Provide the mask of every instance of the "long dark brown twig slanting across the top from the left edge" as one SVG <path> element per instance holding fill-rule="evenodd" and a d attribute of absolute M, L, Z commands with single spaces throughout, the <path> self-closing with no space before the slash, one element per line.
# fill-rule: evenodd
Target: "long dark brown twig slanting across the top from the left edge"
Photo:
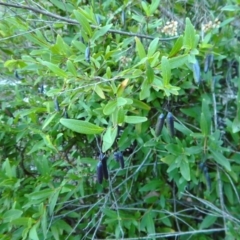
<path fill-rule="evenodd" d="M 7 6 L 7 7 L 13 7 L 13 8 L 21 8 L 21 9 L 26 9 L 35 13 L 40 13 L 43 14 L 45 16 L 49 16 L 58 20 L 62 20 L 68 24 L 72 24 L 72 25 L 79 25 L 79 22 L 77 20 L 73 20 L 70 18 L 66 18 L 66 17 L 62 17 L 59 16 L 57 14 L 45 11 L 45 10 L 41 10 L 41 9 L 37 9 L 37 8 L 33 8 L 33 7 L 29 7 L 29 6 L 25 6 L 25 5 L 18 5 L 18 4 L 12 4 L 12 3 L 4 3 L 4 2 L 0 2 L 0 5 L 2 6 Z M 94 29 L 100 29 L 99 26 L 96 25 L 91 25 L 92 28 Z M 122 30 L 116 30 L 116 29 L 109 29 L 108 31 L 109 33 L 115 33 L 115 34 L 120 34 L 120 35 L 125 35 L 125 36 L 130 36 L 130 37 L 139 37 L 139 38 L 145 38 L 145 39 L 155 39 L 156 37 L 154 36 L 149 36 L 149 35 L 144 35 L 144 34 L 138 34 L 138 33 L 131 33 L 131 32 L 126 32 L 126 31 L 122 31 Z M 158 38 L 159 41 L 170 41 L 173 39 L 177 39 L 178 36 L 174 36 L 174 37 L 169 37 L 169 38 Z"/>

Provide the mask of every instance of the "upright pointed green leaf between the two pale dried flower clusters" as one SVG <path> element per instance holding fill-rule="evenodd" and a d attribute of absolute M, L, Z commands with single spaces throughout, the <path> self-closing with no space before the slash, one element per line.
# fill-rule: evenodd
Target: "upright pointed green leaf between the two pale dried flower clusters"
<path fill-rule="evenodd" d="M 195 29 L 189 18 L 186 18 L 183 45 L 188 50 L 195 48 Z"/>

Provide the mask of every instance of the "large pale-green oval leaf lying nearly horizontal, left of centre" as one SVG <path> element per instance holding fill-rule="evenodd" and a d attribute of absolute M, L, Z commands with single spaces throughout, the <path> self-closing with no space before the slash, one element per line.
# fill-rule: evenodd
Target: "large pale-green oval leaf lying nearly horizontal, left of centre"
<path fill-rule="evenodd" d="M 99 134 L 104 130 L 104 128 L 96 126 L 92 123 L 75 119 L 61 118 L 60 123 L 72 131 L 82 134 Z"/>

